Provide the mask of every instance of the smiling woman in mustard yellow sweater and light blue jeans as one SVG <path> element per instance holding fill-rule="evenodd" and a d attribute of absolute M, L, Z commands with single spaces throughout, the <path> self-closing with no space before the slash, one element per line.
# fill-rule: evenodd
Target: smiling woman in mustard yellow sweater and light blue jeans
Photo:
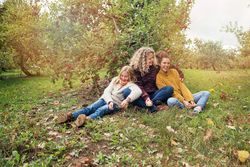
<path fill-rule="evenodd" d="M 161 51 L 161 56 L 157 56 L 160 64 L 160 71 L 156 77 L 156 85 L 159 89 L 165 86 L 174 88 L 173 97 L 169 98 L 167 104 L 169 107 L 177 106 L 179 108 L 194 108 L 194 114 L 201 112 L 210 96 L 208 91 L 200 91 L 191 94 L 186 85 L 180 81 L 179 74 L 175 69 L 170 69 L 170 58 L 168 54 Z"/>

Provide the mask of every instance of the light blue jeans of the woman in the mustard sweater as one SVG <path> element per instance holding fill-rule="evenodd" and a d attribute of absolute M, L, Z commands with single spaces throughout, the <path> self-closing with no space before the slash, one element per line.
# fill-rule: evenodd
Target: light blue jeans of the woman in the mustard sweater
<path fill-rule="evenodd" d="M 200 91 L 198 93 L 193 94 L 194 102 L 196 103 L 196 106 L 201 106 L 201 108 L 204 109 L 209 96 L 210 96 L 210 93 L 208 91 Z M 181 109 L 185 108 L 184 104 L 174 97 L 169 98 L 167 103 L 169 107 L 177 106 Z"/>

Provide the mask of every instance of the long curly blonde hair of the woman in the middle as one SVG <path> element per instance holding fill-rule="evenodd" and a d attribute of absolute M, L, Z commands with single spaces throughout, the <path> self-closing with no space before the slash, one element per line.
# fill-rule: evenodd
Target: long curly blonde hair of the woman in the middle
<path fill-rule="evenodd" d="M 134 70 L 139 70 L 143 76 L 148 72 L 149 67 L 147 66 L 147 55 L 153 53 L 154 55 L 154 65 L 157 65 L 155 58 L 155 51 L 150 47 L 141 47 L 138 49 L 130 60 L 130 66 Z"/>

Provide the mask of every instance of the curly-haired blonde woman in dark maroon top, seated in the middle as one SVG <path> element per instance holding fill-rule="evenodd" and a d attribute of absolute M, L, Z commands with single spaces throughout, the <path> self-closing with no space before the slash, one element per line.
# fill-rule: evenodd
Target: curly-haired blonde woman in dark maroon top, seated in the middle
<path fill-rule="evenodd" d="M 156 87 L 156 75 L 159 67 L 156 63 L 155 51 L 149 47 L 138 49 L 131 58 L 130 66 L 134 70 L 135 83 L 142 90 L 142 96 L 135 100 L 134 104 L 139 107 L 149 108 L 150 112 L 165 109 L 159 104 L 167 102 L 167 99 L 173 94 L 173 88 L 164 86 L 158 90 Z"/>

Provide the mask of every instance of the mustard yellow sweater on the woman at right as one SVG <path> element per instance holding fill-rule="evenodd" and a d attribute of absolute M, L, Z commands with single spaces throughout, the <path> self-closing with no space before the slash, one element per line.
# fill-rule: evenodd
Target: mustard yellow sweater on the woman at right
<path fill-rule="evenodd" d="M 174 88 L 173 97 L 180 102 L 194 100 L 190 90 L 180 81 L 179 73 L 175 69 L 169 69 L 168 72 L 160 70 L 156 76 L 156 86 L 158 89 L 164 86 L 172 86 Z"/>

